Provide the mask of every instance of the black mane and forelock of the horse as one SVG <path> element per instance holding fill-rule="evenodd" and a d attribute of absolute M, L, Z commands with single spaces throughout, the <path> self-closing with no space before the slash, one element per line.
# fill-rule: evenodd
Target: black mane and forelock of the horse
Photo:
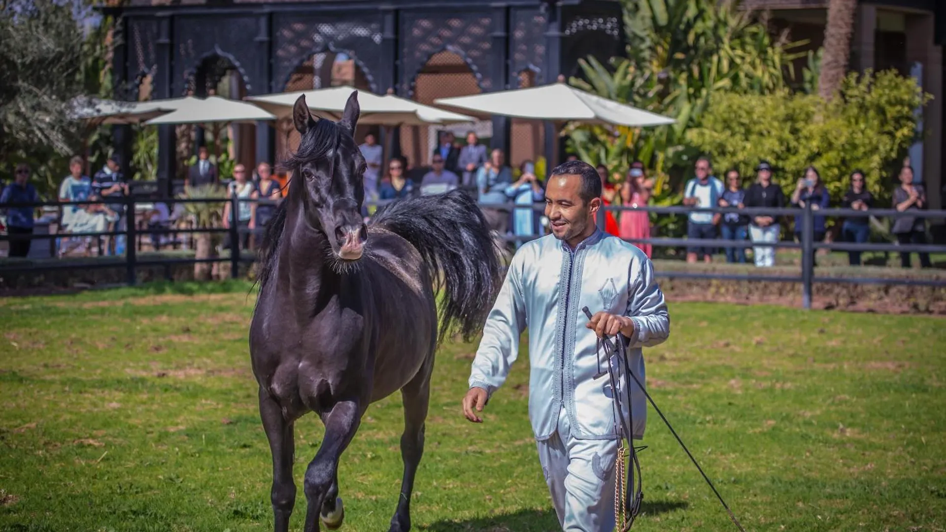
<path fill-rule="evenodd" d="M 302 135 L 299 141 L 299 149 L 289 155 L 289 159 L 279 165 L 279 168 L 289 170 L 294 178 L 299 174 L 299 168 L 312 161 L 318 161 L 326 158 L 329 154 L 338 151 L 342 144 L 342 134 L 346 133 L 337 123 L 326 118 L 320 118 L 315 122 L 306 134 Z M 293 185 L 293 179 L 289 179 L 289 193 L 287 197 L 276 206 L 276 212 L 272 220 L 266 226 L 266 233 L 259 246 L 259 275 L 256 282 L 259 288 L 263 289 L 267 281 L 272 276 L 273 268 L 276 263 L 276 252 L 282 243 L 283 230 L 286 228 L 286 209 L 289 200 L 294 197 L 294 188 L 302 184 Z"/>

